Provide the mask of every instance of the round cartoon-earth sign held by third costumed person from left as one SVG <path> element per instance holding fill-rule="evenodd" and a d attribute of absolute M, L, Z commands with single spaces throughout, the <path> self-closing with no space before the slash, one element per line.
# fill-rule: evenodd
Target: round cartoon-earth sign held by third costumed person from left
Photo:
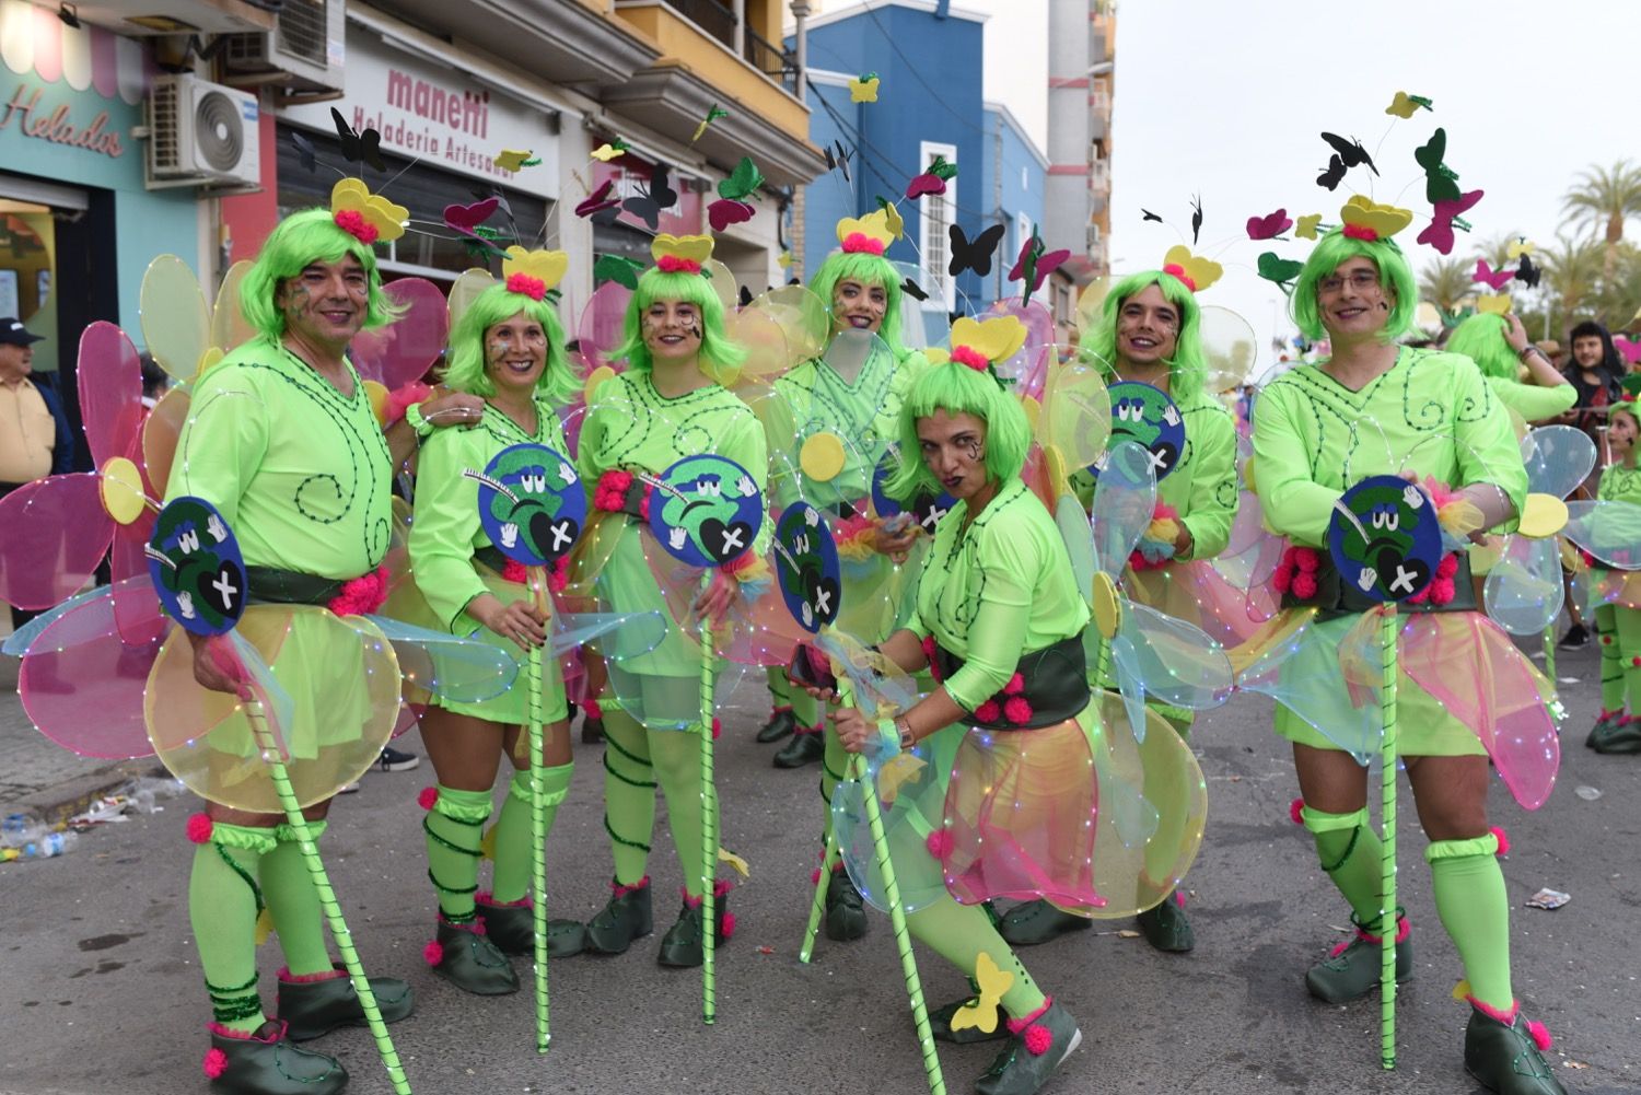
<path fill-rule="evenodd" d="M 763 497 L 747 470 L 725 456 L 684 456 L 650 496 L 650 532 L 689 566 L 720 566 L 752 548 Z"/>

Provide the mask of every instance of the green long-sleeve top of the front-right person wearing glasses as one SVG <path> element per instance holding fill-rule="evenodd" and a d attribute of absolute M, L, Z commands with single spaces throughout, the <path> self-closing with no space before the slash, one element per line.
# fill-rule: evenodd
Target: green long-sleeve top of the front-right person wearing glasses
<path fill-rule="evenodd" d="M 1301 364 L 1254 404 L 1259 502 L 1270 529 L 1295 543 L 1324 545 L 1346 488 L 1401 471 L 1454 489 L 1492 483 L 1521 511 L 1521 450 L 1470 358 L 1401 348 L 1390 369 L 1355 392 L 1318 364 Z"/>

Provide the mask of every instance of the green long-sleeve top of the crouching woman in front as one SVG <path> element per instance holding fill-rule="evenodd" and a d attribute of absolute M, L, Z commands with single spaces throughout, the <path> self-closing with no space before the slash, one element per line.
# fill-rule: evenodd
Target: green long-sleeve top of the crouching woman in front
<path fill-rule="evenodd" d="M 1022 655 L 1086 624 L 1088 602 L 1060 530 L 1021 479 L 1004 483 L 973 524 L 968 502 L 940 519 L 907 627 L 963 658 L 944 683 L 965 709 L 1008 685 Z"/>

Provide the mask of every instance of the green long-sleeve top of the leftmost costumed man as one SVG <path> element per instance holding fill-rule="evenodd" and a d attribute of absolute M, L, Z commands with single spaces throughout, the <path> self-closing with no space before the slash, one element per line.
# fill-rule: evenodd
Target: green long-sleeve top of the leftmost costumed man
<path fill-rule="evenodd" d="M 392 455 L 359 374 L 343 396 L 272 338 L 194 387 L 166 484 L 213 504 L 251 566 L 348 580 L 387 553 Z"/>

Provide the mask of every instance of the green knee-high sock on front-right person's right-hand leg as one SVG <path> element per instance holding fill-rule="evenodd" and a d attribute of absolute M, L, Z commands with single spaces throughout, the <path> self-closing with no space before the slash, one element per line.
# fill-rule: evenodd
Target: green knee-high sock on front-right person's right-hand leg
<path fill-rule="evenodd" d="M 1510 1011 L 1510 896 L 1495 859 L 1498 837 L 1434 841 L 1424 849 L 1431 865 L 1436 914 L 1464 962 L 1470 995 L 1490 1008 Z"/>

